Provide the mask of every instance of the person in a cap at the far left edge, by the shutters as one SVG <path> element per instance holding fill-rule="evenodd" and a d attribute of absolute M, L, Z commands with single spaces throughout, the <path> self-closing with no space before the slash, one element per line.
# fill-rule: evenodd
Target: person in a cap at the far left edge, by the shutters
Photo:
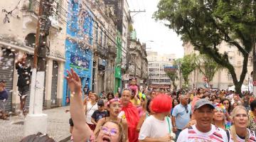
<path fill-rule="evenodd" d="M 0 82 L 0 118 L 7 119 L 7 116 L 5 114 L 5 103 L 8 99 L 8 92 L 5 89 L 6 82 L 4 80 L 1 80 Z"/>

